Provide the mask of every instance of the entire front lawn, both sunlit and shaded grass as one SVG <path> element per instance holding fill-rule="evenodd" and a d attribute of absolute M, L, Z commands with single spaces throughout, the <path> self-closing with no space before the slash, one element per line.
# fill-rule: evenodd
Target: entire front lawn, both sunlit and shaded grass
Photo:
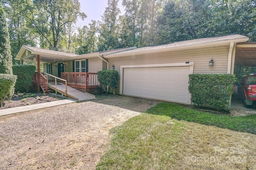
<path fill-rule="evenodd" d="M 111 130 L 96 169 L 254 169 L 255 118 L 215 115 L 161 103 Z"/>

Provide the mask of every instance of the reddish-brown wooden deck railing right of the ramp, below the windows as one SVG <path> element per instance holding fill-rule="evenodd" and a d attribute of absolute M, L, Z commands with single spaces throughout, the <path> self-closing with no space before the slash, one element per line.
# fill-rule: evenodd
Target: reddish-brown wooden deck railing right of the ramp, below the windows
<path fill-rule="evenodd" d="M 91 72 L 62 72 L 61 78 L 67 80 L 70 87 L 96 88 L 99 85 L 97 73 Z"/>

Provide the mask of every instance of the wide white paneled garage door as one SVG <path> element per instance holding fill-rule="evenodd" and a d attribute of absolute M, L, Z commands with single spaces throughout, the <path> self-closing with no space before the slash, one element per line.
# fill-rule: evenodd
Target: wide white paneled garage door
<path fill-rule="evenodd" d="M 189 66 L 124 68 L 123 94 L 190 104 Z"/>

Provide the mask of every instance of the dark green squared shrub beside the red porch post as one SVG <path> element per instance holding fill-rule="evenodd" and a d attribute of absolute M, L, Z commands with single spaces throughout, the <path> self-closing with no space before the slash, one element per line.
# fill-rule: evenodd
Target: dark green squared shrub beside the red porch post
<path fill-rule="evenodd" d="M 29 92 L 33 83 L 33 76 L 35 74 L 36 66 L 16 64 L 12 66 L 14 75 L 17 75 L 16 91 Z"/>

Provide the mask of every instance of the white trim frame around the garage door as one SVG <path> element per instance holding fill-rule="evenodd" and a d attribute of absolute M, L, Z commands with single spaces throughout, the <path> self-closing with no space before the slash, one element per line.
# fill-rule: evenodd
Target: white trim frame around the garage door
<path fill-rule="evenodd" d="M 120 91 L 119 94 L 123 94 L 123 82 L 124 82 L 124 68 L 147 68 L 147 67 L 176 67 L 176 66 L 190 66 L 189 74 L 194 73 L 194 62 L 191 63 L 167 63 L 167 64 L 144 64 L 144 65 L 128 65 L 120 66 Z M 189 94 L 188 104 L 191 105 L 191 95 Z"/>

